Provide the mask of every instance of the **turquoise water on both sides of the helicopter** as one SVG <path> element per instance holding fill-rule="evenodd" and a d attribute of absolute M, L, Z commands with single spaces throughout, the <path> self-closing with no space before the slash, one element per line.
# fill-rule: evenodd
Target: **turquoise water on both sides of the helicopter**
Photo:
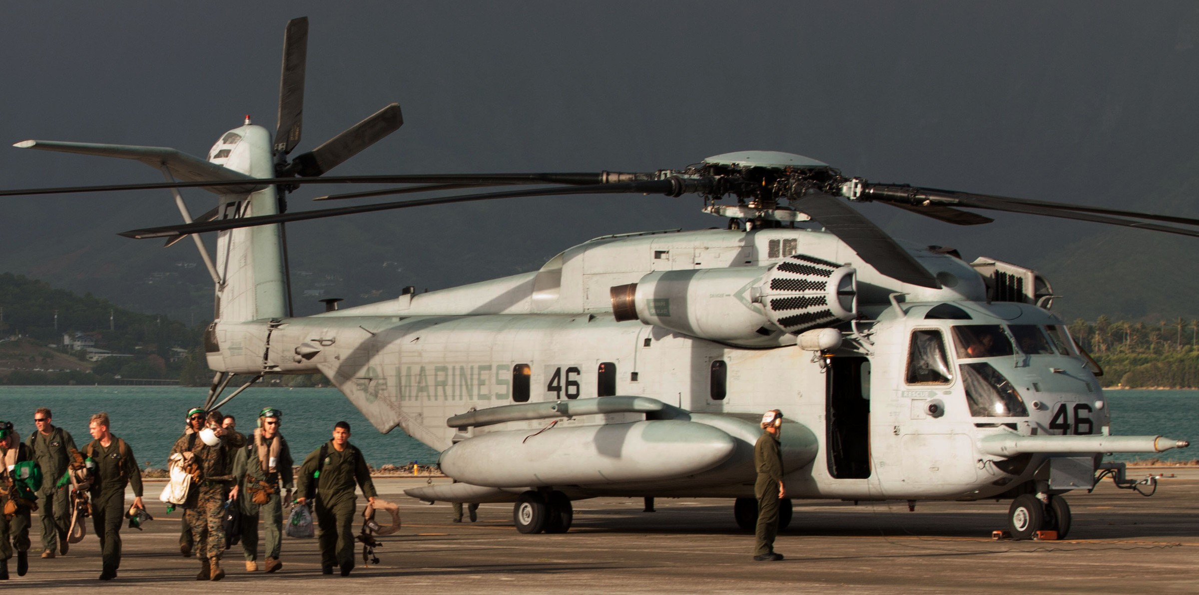
<path fill-rule="evenodd" d="M 228 394 L 228 393 L 227 393 Z M 17 425 L 22 437 L 34 431 L 34 409 L 49 407 L 54 424 L 70 431 L 83 447 L 91 438 L 88 419 L 107 411 L 113 433 L 126 438 L 139 462 L 163 467 L 170 447 L 183 431 L 183 415 L 199 406 L 205 388 L 187 387 L 0 387 L 0 419 Z M 1111 411 L 1111 433 L 1163 435 L 1199 443 L 1199 390 L 1109 390 L 1104 399 Z M 249 432 L 263 407 L 283 409 L 283 435 L 299 462 L 320 447 L 338 420 L 353 427 L 350 442 L 362 449 L 374 467 L 411 461 L 436 462 L 435 450 L 399 430 L 381 435 L 332 388 L 251 388 L 222 412 L 237 418 L 237 429 Z M 1159 455 L 1115 455 L 1117 461 L 1157 457 L 1167 461 L 1199 459 L 1199 444 Z"/>

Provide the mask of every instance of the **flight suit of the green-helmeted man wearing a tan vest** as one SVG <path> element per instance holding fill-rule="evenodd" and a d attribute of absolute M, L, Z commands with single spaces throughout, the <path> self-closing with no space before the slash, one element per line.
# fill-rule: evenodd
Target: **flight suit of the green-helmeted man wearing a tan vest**
<path fill-rule="evenodd" d="M 257 436 L 258 432 L 259 430 L 255 430 L 252 436 Z M 266 533 L 266 558 L 279 559 L 279 550 L 283 545 L 283 490 L 291 490 L 295 486 L 291 450 L 283 435 L 279 435 L 279 456 L 275 463 L 275 473 L 269 473 L 267 469 L 263 468 L 263 462 L 258 456 L 258 447 L 253 439 L 247 441 L 246 448 L 237 450 L 237 459 L 234 462 L 234 475 L 241 484 L 237 496 L 237 500 L 241 502 L 243 521 L 241 551 L 247 561 L 258 559 L 258 520 L 261 515 L 265 515 L 261 518 Z M 267 462 L 269 467 L 270 462 Z M 247 490 L 247 484 L 251 481 L 266 481 L 275 490 L 266 504 L 254 504 L 249 490 Z"/>

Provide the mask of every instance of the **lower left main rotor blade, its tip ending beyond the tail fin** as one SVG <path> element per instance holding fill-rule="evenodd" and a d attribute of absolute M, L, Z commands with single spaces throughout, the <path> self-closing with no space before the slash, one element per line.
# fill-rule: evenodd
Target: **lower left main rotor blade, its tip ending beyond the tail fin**
<path fill-rule="evenodd" d="M 535 188 L 525 190 L 507 190 L 482 194 L 464 194 L 457 196 L 439 196 L 433 199 L 405 200 L 398 202 L 380 202 L 375 205 L 355 205 L 341 208 L 324 208 L 317 211 L 300 211 L 283 214 L 267 214 L 259 217 L 243 217 L 237 219 L 219 219 L 206 223 L 192 223 L 185 225 L 170 225 L 164 227 L 147 227 L 121 232 L 121 236 L 135 239 L 155 237 L 173 237 L 185 233 L 204 233 L 207 231 L 222 231 L 236 227 L 252 227 L 255 225 L 272 225 L 276 223 L 303 221 L 308 219 L 321 219 L 325 217 L 337 217 L 343 214 L 374 213 L 379 211 L 391 211 L 396 208 L 423 207 L 432 205 L 448 205 L 453 202 L 471 202 L 477 200 L 516 199 L 522 196 L 550 196 L 565 194 L 667 194 L 679 196 L 683 193 L 701 192 L 707 188 L 707 180 L 655 180 L 647 182 L 620 182 L 602 186 L 558 186 L 552 188 Z"/>

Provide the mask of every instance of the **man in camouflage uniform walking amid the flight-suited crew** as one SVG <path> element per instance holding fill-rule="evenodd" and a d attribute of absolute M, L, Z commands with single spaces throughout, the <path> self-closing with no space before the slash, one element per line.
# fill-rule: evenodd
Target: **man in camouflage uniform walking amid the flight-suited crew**
<path fill-rule="evenodd" d="M 197 581 L 219 581 L 224 578 L 221 569 L 221 554 L 225 547 L 225 535 L 222 527 L 224 503 L 237 498 L 237 485 L 234 481 L 233 463 L 237 449 L 245 447 L 237 442 L 236 432 L 224 433 L 221 412 L 209 412 L 206 427 L 194 432 L 198 439 L 185 435 L 175 441 L 170 454 L 191 454 L 195 474 L 192 490 L 187 493 L 183 505 L 183 522 L 192 529 L 195 540 L 195 555 L 200 559 L 200 571 Z"/>

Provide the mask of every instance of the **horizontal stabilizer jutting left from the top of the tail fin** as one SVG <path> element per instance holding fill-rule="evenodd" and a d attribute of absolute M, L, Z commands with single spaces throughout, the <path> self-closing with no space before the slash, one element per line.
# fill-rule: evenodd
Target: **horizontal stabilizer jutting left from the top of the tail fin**
<path fill-rule="evenodd" d="M 17 148 L 40 148 L 62 153 L 94 154 L 97 157 L 116 157 L 135 159 L 153 169 L 167 168 L 176 180 L 185 182 L 236 182 L 255 178 L 231 169 L 209 163 L 199 157 L 179 152 L 169 147 L 143 147 L 135 145 L 97 145 L 92 142 L 62 142 L 56 140 L 23 140 L 13 145 Z M 247 194 L 263 189 L 261 184 L 201 187 L 213 194 Z"/>

